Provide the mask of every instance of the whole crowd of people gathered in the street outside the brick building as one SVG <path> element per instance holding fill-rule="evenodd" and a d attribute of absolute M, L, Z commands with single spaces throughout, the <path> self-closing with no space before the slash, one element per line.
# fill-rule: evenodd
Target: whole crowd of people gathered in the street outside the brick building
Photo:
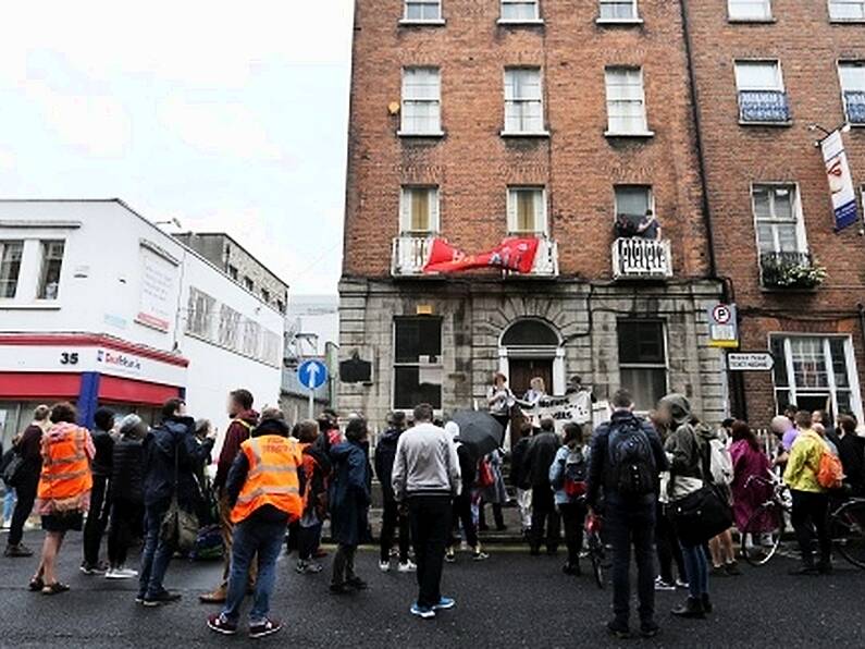
<path fill-rule="evenodd" d="M 584 390 L 579 377 L 571 389 Z M 136 601 L 155 608 L 181 597 L 164 586 L 175 553 L 195 552 L 202 537 L 215 537 L 223 549 L 222 579 L 200 601 L 221 611 L 207 624 L 217 633 L 237 633 L 244 599 L 251 595 L 249 634 L 263 637 L 281 628 L 270 614 L 270 599 L 283 543 L 296 551 L 298 574 L 321 573 L 325 522 L 336 546 L 330 591 L 346 596 L 368 588 L 356 555 L 373 539 L 369 512 L 375 476 L 383 506 L 379 567 L 391 571 L 395 559 L 398 573 L 416 574 L 410 612 L 433 619 L 456 603 L 442 592 L 444 564 L 457 562 L 464 546 L 473 561 L 490 558 L 479 536 L 486 529 L 486 505 L 496 529 L 506 529 L 509 466 L 531 555 L 542 549 L 555 555 L 564 528 L 563 572 L 579 576 L 586 524 L 603 519 L 613 558 L 608 630 L 617 637 L 631 634 L 631 549 L 642 636 L 659 630 L 656 591 L 687 590 L 672 610 L 677 616 L 705 619 L 713 612 L 709 577 L 742 574 L 732 530 L 753 537 L 745 543 L 761 542 L 754 514 L 768 497 L 773 475 L 782 476 L 792 493 L 791 523 L 802 556 L 794 573 L 831 572 L 830 498 L 865 494 L 865 439 L 854 418 L 841 416 L 830 427 L 823 412 L 788 408 L 771 421 L 778 443 L 769 454 L 746 423 L 728 419 L 714 430 L 681 394 L 667 395 L 642 418 L 631 395 L 620 390 L 613 395 L 609 421 L 594 430 L 585 423 L 514 418 L 515 408 L 530 408 L 543 396 L 542 379 L 517 399 L 497 374 L 490 416 L 502 430 L 520 421 L 519 430 L 508 453 L 496 449 L 481 456 L 461 439 L 459 425 L 437 420 L 429 404 L 410 416 L 390 414 L 371 449 L 368 423 L 358 415 L 341 426 L 335 412 L 324 411 L 317 420 L 292 426 L 276 408 L 259 414 L 252 394 L 235 390 L 215 458 L 211 424 L 196 421 L 180 399 L 163 405 L 153 427 L 138 415 L 118 420 L 100 408 L 88 430 L 69 403 L 39 406 L 4 456 L 7 491 L 16 499 L 8 516 L 10 518 L 4 554 L 34 554 L 23 535 L 35 512 L 45 536 L 30 590 L 52 596 L 70 589 L 57 558 L 67 532 L 83 531 L 82 573 L 137 578 Z M 832 458 L 842 483 L 827 486 L 824 465 Z M 136 539 L 141 552 L 133 566 L 128 555 Z"/>

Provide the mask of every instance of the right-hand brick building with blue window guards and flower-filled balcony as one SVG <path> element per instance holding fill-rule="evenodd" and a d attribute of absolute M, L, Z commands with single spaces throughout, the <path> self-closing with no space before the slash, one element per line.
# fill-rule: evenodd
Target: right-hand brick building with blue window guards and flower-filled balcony
<path fill-rule="evenodd" d="M 814 144 L 850 122 L 852 175 L 865 183 L 865 1 L 687 8 L 718 272 L 739 305 L 742 348 L 776 359 L 774 374 L 737 377 L 736 409 L 763 426 L 788 403 L 862 420 L 862 221 L 833 231 Z M 820 285 L 808 272 L 792 281 L 791 268 L 814 267 L 826 269 Z"/>

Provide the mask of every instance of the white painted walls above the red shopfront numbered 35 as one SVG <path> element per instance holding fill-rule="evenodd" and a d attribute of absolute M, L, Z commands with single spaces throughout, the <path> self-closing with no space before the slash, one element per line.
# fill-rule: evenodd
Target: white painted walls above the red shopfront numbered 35
<path fill-rule="evenodd" d="M 18 291 L 14 299 L 0 299 L 0 331 L 106 333 L 158 350 L 176 350 L 189 360 L 190 411 L 221 430 L 230 390 L 249 389 L 258 406 L 279 402 L 279 363 L 271 366 L 247 358 L 187 335 L 185 328 L 191 286 L 276 333 L 280 345 L 282 315 L 122 203 L 0 200 L 0 241 L 21 238 L 26 244 Z M 55 301 L 37 301 L 39 240 L 47 238 L 66 242 L 60 291 Z M 170 311 L 168 331 L 136 322 L 143 304 L 143 241 L 177 262 L 176 267 L 166 265 L 176 272 L 164 301 Z M 277 358 L 282 358 L 282 347 Z"/>

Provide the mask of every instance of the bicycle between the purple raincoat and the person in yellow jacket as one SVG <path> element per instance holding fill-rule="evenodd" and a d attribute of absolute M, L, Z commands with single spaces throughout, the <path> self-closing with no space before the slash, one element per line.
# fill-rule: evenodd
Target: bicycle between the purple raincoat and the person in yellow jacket
<path fill-rule="evenodd" d="M 768 500 L 754 510 L 747 523 L 739 530 L 742 556 L 751 565 L 761 566 L 766 565 L 777 554 L 793 504 L 790 490 L 783 482 L 751 476 L 745 481 L 745 488 L 751 487 L 752 482 L 771 487 Z"/>

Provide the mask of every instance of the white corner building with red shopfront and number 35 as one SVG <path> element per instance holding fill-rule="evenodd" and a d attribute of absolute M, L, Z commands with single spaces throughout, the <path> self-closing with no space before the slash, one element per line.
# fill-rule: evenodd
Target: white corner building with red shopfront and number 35
<path fill-rule="evenodd" d="M 152 423 L 171 396 L 225 428 L 279 403 L 282 314 L 121 200 L 0 200 L 0 433 L 70 400 Z"/>

